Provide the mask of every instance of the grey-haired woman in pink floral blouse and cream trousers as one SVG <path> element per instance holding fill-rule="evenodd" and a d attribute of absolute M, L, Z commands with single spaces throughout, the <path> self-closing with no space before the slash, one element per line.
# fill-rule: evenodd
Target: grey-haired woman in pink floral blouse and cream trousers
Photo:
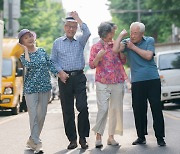
<path fill-rule="evenodd" d="M 116 25 L 111 22 L 103 22 L 98 27 L 100 41 L 91 48 L 89 65 L 96 68 L 96 96 L 98 113 L 93 131 L 96 133 L 96 148 L 101 148 L 102 135 L 105 130 L 107 116 L 109 116 L 108 145 L 117 146 L 114 134 L 123 134 L 123 96 L 124 81 L 127 75 L 123 64 L 126 57 L 120 52 L 113 53 L 113 37 Z M 127 35 L 126 30 L 120 33 L 119 38 Z M 108 113 L 109 112 L 109 113 Z"/>

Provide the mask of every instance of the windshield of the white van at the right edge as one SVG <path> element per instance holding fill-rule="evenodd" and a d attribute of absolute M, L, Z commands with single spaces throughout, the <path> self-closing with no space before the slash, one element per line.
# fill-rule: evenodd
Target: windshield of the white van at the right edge
<path fill-rule="evenodd" d="M 160 55 L 159 69 L 180 69 L 180 52 Z"/>

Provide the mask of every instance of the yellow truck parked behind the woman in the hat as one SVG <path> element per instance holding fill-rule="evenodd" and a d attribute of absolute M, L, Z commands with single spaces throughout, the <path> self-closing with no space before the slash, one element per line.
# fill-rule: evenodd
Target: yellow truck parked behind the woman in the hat
<path fill-rule="evenodd" d="M 0 109 L 11 109 L 12 115 L 23 110 L 23 66 L 19 60 L 23 53 L 18 39 L 4 38 L 2 46 L 2 87 Z M 27 109 L 25 109 L 27 111 Z"/>

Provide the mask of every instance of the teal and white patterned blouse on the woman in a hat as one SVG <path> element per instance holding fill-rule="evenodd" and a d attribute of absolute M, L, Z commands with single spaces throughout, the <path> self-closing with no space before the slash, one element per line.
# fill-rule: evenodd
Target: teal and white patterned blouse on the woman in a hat
<path fill-rule="evenodd" d="M 20 59 L 26 68 L 24 79 L 24 94 L 47 92 L 51 90 L 50 73 L 58 73 L 52 61 L 43 48 L 38 48 L 35 52 L 29 53 L 30 62 L 25 60 L 25 55 Z"/>

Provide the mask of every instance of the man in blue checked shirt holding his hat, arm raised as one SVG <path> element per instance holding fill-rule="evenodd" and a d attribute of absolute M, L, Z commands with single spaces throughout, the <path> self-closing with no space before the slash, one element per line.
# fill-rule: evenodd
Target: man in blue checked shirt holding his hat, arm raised
<path fill-rule="evenodd" d="M 81 148 L 88 148 L 86 137 L 89 136 L 89 113 L 87 107 L 86 77 L 83 73 L 85 66 L 84 47 L 90 31 L 79 18 L 76 11 L 70 12 L 64 21 L 65 35 L 54 41 L 51 60 L 59 72 L 58 79 L 60 100 L 63 112 L 65 133 L 70 144 L 67 149 L 77 147 L 77 133 L 75 125 L 74 98 L 78 113 L 78 134 Z M 75 38 L 78 28 L 82 35 Z"/>

